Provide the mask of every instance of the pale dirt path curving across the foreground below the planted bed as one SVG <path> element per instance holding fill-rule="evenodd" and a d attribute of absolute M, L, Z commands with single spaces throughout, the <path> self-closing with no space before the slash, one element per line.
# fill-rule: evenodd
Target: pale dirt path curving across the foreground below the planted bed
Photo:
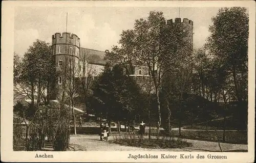
<path fill-rule="evenodd" d="M 108 142 L 102 142 L 99 140 L 98 135 L 71 135 L 70 143 L 78 144 L 87 149 L 87 151 L 205 151 L 205 152 L 220 152 L 218 143 L 216 142 L 207 142 L 207 141 L 198 141 L 198 140 L 187 140 L 187 142 L 192 143 L 191 147 L 182 148 L 182 149 L 147 149 L 139 147 L 130 147 L 123 146 L 119 144 L 112 143 L 113 137 L 109 137 Z M 244 144 L 229 144 L 221 143 L 223 151 L 236 151 L 240 152 L 247 150 L 247 145 Z"/>

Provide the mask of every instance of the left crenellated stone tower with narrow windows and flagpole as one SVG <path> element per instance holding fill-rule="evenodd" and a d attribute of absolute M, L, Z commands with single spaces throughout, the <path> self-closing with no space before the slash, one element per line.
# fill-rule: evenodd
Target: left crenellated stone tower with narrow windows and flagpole
<path fill-rule="evenodd" d="M 76 72 L 79 54 L 80 39 L 77 35 L 71 33 L 55 33 L 52 35 L 52 60 L 56 64 L 57 77 L 50 88 L 51 99 L 57 99 L 62 94 L 65 80 L 67 80 L 65 74 L 71 69 L 71 72 Z"/>

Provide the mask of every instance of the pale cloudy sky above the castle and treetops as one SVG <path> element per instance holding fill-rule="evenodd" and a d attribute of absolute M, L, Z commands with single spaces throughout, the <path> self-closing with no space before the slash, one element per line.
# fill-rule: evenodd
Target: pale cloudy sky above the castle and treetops
<path fill-rule="evenodd" d="M 194 22 L 194 47 L 202 47 L 209 36 L 211 17 L 220 8 L 180 8 L 180 18 Z M 178 7 L 16 7 L 14 51 L 23 56 L 36 39 L 51 43 L 51 36 L 67 32 L 80 38 L 80 46 L 111 50 L 118 44 L 122 30 L 133 29 L 136 19 L 146 19 L 150 11 L 162 11 L 164 18 L 179 17 Z"/>

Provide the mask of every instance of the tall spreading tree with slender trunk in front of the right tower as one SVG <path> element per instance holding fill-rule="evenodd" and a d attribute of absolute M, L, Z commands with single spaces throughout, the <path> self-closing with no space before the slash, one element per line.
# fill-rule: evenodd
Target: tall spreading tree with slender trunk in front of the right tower
<path fill-rule="evenodd" d="M 165 25 L 162 12 L 151 11 L 147 19 L 135 20 L 134 29 L 122 31 L 120 47 L 114 46 L 106 53 L 105 59 L 119 63 L 128 75 L 134 74 L 133 64 L 145 65 L 152 75 L 156 93 L 158 123 L 161 125 L 159 91 L 165 73 L 180 66 L 190 56 L 191 43 L 185 39 L 188 29 L 183 30 L 179 23 Z M 129 68 L 130 67 L 130 68 Z M 158 126 L 158 127 L 159 127 Z"/>

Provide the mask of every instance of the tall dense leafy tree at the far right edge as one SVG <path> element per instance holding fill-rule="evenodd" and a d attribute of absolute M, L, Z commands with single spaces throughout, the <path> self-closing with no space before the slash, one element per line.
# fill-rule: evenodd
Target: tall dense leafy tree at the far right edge
<path fill-rule="evenodd" d="M 233 100 L 238 101 L 237 120 L 247 126 L 248 101 L 248 34 L 249 18 L 246 8 L 222 8 L 209 28 L 210 36 L 206 48 L 225 72 L 225 78 L 231 80 L 229 88 Z M 224 87 L 223 87 L 224 88 Z M 236 114 L 238 115 L 238 114 Z M 239 124 L 238 124 L 239 125 Z"/>

